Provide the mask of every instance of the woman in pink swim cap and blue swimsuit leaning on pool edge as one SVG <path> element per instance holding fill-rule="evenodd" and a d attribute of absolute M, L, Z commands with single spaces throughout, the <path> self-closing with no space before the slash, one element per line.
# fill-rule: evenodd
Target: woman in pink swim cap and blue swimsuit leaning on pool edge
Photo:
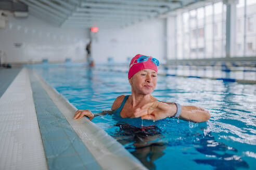
<path fill-rule="evenodd" d="M 147 120 L 160 120 L 175 117 L 193 122 L 209 120 L 209 112 L 202 108 L 158 101 L 151 95 L 157 84 L 157 66 L 159 61 L 151 56 L 141 54 L 134 56 L 128 72 L 132 94 L 117 97 L 111 107 L 112 112 L 120 115 L 121 118 L 140 117 Z M 89 110 L 78 110 L 73 119 L 81 119 L 83 116 L 92 120 L 95 115 Z"/>

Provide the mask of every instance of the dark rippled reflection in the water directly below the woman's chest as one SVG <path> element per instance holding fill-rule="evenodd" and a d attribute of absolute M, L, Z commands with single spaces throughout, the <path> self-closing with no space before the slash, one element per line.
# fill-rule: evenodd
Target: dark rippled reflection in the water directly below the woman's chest
<path fill-rule="evenodd" d="M 115 126 L 118 126 L 119 130 L 115 131 L 112 136 L 148 169 L 156 169 L 154 161 L 164 155 L 163 150 L 167 147 L 160 140 L 161 129 L 156 125 L 136 127 L 117 123 Z"/>

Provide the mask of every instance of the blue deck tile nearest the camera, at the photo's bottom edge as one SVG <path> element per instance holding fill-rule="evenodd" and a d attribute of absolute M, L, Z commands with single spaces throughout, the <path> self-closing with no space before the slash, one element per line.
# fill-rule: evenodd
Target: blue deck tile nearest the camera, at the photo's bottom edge
<path fill-rule="evenodd" d="M 84 170 L 83 162 L 78 157 L 78 155 L 70 155 L 67 157 L 56 157 L 47 159 L 48 167 L 50 170 L 53 169 L 75 169 L 75 170 Z"/>

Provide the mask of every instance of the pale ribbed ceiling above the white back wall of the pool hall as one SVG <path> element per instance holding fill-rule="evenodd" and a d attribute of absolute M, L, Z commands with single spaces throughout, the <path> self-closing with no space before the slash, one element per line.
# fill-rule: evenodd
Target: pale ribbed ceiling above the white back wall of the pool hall
<path fill-rule="evenodd" d="M 86 29 L 125 27 L 159 17 L 197 0 L 18 0 L 29 14 L 55 26 Z"/>

